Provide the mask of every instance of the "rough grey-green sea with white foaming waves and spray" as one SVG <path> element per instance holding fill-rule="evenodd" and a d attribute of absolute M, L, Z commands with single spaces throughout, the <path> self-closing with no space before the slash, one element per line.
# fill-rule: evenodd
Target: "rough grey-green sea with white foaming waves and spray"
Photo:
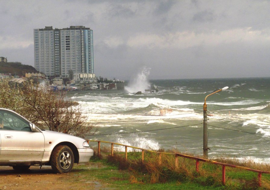
<path fill-rule="evenodd" d="M 142 72 L 123 90 L 68 94 L 97 124 L 97 132 L 88 139 L 202 156 L 205 97 L 228 86 L 206 99 L 208 157 L 270 162 L 270 78 L 147 78 Z M 158 92 L 135 95 L 151 85 Z"/>

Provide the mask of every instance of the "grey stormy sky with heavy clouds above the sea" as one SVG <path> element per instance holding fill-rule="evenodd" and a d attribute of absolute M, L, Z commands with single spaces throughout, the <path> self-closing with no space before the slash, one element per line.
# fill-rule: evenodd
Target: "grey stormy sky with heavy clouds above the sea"
<path fill-rule="evenodd" d="M 34 65 L 33 29 L 90 27 L 94 72 L 130 79 L 269 77 L 270 1 L 0 0 L 0 56 Z"/>

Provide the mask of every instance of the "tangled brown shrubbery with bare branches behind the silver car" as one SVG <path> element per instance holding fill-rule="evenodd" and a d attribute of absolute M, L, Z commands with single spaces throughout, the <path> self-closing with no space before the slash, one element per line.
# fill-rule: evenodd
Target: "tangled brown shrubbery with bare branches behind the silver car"
<path fill-rule="evenodd" d="M 1 81 L 0 107 L 18 112 L 39 128 L 80 137 L 97 130 L 65 91 L 53 92 L 31 81 L 16 88 L 9 86 L 8 81 Z"/>

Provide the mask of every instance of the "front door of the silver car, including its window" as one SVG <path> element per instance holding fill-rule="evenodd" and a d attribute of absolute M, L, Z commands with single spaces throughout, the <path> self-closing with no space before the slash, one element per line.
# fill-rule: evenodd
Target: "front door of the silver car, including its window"
<path fill-rule="evenodd" d="M 42 160 L 44 135 L 32 131 L 30 122 L 15 112 L 0 110 L 0 136 L 0 163 Z"/>

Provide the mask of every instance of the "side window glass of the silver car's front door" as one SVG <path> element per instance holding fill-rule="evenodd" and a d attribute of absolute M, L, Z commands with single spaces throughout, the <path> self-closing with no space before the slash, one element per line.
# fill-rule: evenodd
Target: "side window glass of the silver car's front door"
<path fill-rule="evenodd" d="M 30 124 L 27 121 L 8 111 L 0 111 L 0 129 L 31 131 Z"/>

